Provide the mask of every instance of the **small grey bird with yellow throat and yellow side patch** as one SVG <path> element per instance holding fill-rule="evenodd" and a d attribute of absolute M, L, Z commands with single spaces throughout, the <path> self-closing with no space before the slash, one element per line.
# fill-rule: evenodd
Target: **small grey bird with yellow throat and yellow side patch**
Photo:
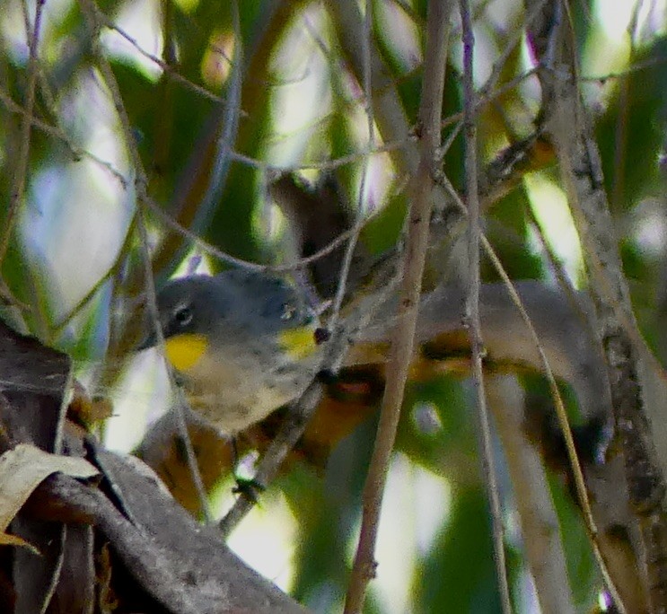
<path fill-rule="evenodd" d="M 225 434 L 294 401 L 320 371 L 327 336 L 284 277 L 244 268 L 184 276 L 156 303 L 164 352 L 190 407 Z M 138 349 L 156 342 L 149 323 Z"/>

